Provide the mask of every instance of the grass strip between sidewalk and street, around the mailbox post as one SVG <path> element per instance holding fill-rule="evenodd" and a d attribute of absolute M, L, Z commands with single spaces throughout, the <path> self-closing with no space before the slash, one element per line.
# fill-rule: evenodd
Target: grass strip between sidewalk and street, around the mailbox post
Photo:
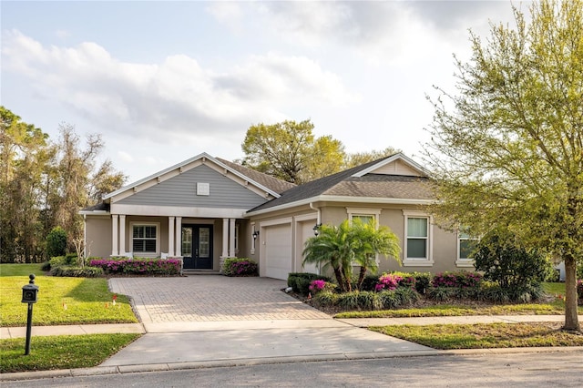
<path fill-rule="evenodd" d="M 90 368 L 134 342 L 140 334 L 90 334 L 0 340 L 0 373 Z"/>

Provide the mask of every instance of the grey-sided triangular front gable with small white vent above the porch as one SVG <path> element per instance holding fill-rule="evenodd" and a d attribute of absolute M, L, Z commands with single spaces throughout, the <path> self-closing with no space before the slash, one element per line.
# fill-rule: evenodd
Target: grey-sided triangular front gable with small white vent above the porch
<path fill-rule="evenodd" d="M 159 181 L 116 203 L 141 206 L 251 209 L 267 198 L 205 164 Z M 197 188 L 199 190 L 197 190 Z M 206 192 L 208 189 L 208 192 Z"/>

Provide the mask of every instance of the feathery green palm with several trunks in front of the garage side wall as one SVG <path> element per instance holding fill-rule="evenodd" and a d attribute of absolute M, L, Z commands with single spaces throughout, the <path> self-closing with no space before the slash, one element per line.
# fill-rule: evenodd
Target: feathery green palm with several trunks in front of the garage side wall
<path fill-rule="evenodd" d="M 399 240 L 386 227 L 343 220 L 339 226 L 322 225 L 318 236 L 305 242 L 303 263 L 320 264 L 332 269 L 341 291 L 352 291 L 353 265 L 360 265 L 357 285 L 363 284 L 366 271 L 377 268 L 375 255 L 384 254 L 398 260 Z"/>

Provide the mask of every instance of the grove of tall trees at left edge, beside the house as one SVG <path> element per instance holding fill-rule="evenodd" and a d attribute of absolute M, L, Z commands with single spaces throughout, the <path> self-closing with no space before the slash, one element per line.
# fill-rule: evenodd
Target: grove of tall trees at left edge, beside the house
<path fill-rule="evenodd" d="M 59 141 L 50 143 L 5 107 L 0 126 L 0 261 L 43 260 L 49 231 L 61 225 L 71 244 L 79 240 L 78 210 L 121 187 L 125 176 L 109 161 L 97 164 L 99 136 L 82 148 L 73 128 L 63 126 Z"/>

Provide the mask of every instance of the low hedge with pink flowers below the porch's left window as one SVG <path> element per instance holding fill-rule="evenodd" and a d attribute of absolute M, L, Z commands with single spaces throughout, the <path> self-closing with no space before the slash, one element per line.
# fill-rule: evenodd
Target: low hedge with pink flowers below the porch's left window
<path fill-rule="evenodd" d="M 107 274 L 178 275 L 182 262 L 176 259 L 91 260 L 91 267 L 99 267 Z"/>

